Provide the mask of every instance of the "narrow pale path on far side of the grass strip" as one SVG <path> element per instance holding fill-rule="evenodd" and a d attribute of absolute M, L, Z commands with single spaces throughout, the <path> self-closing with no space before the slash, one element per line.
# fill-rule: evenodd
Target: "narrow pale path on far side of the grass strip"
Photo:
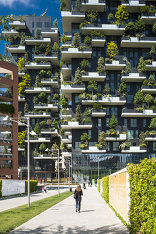
<path fill-rule="evenodd" d="M 65 192 L 67 190 L 69 191 L 68 186 L 60 186 L 60 193 Z M 41 193 L 31 194 L 30 202 L 41 200 L 41 199 L 44 199 L 46 197 L 50 197 L 56 194 L 58 194 L 58 187 L 54 185 L 51 188 L 49 188 L 47 193 L 41 192 Z M 25 195 L 22 197 L 10 197 L 4 200 L 0 200 L 0 212 L 15 208 L 17 206 L 22 206 L 27 203 L 28 203 L 28 197 Z"/>

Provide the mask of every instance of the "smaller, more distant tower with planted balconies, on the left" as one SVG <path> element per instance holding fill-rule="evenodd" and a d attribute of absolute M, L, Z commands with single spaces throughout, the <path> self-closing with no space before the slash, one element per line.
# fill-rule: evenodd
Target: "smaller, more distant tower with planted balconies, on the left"
<path fill-rule="evenodd" d="M 26 127 L 22 117 L 30 118 L 31 178 L 50 180 L 56 176 L 59 144 L 59 30 L 49 16 L 13 17 L 2 30 L 8 42 L 6 51 L 18 65 L 18 152 L 19 177 L 27 177 Z"/>

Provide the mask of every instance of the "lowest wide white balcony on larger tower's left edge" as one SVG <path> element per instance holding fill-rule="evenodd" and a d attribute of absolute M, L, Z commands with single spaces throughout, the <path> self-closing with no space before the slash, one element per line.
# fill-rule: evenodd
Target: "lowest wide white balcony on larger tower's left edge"
<path fill-rule="evenodd" d="M 77 121 L 74 122 L 65 122 L 61 124 L 62 129 L 91 129 L 92 123 L 79 123 Z"/>

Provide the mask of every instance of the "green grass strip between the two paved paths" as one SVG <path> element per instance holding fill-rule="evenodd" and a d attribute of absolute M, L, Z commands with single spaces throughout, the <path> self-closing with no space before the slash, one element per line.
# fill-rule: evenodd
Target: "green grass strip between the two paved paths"
<path fill-rule="evenodd" d="M 32 202 L 29 209 L 26 204 L 14 209 L 0 212 L 0 234 L 8 233 L 41 212 L 71 196 L 71 194 L 73 193 L 68 191 L 61 193 L 60 196 L 54 195 L 36 202 Z"/>

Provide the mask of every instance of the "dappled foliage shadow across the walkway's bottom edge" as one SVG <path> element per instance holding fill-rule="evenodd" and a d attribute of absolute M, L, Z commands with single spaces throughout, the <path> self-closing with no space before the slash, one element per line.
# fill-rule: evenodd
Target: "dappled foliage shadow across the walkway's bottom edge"
<path fill-rule="evenodd" d="M 70 222 L 70 220 L 69 220 Z M 95 221 L 96 222 L 96 221 Z M 123 228 L 119 227 L 119 225 L 107 225 L 96 229 L 85 229 L 84 227 L 75 226 L 74 228 L 64 228 L 62 225 L 57 226 L 57 228 L 50 226 L 40 226 L 36 229 L 23 229 L 22 227 L 16 231 L 10 232 L 10 234 L 20 234 L 20 233 L 37 233 L 37 234 L 128 234 L 128 231 L 125 231 Z"/>

